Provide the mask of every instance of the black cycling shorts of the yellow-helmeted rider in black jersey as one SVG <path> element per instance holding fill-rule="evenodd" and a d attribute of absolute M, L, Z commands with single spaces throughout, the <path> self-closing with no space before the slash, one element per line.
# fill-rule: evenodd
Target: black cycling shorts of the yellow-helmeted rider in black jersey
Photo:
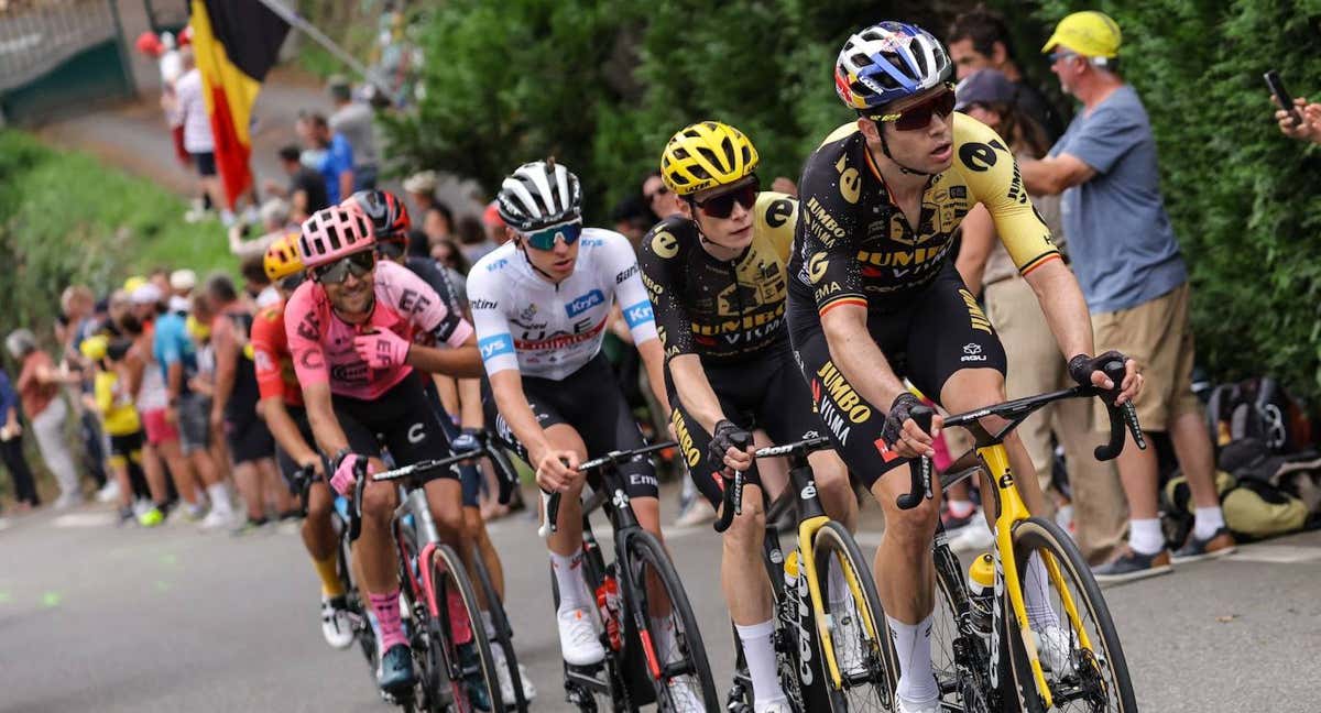
<path fill-rule="evenodd" d="M 815 438 L 826 432 L 787 345 L 736 364 L 703 364 L 703 370 L 720 400 L 720 411 L 734 425 L 746 430 L 764 429 L 777 444 Z M 683 405 L 668 367 L 664 380 L 674 407 L 670 420 L 679 438 L 679 454 L 688 466 L 694 485 L 719 510 L 724 491 L 720 471 L 724 465 L 708 458 L 711 434 Z M 744 473 L 744 482 L 761 486 L 756 462 Z"/>

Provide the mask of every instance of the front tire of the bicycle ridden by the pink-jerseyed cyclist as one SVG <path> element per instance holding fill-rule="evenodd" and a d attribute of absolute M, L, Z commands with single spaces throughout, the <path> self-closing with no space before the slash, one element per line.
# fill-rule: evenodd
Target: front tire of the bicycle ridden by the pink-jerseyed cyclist
<path fill-rule="evenodd" d="M 482 626 L 482 614 L 477 603 L 477 594 L 473 592 L 473 584 L 468 580 L 468 572 L 464 569 L 462 560 L 458 559 L 458 555 L 449 545 L 437 544 L 432 551 L 432 560 L 427 565 L 431 568 L 431 582 L 435 589 L 432 595 L 436 597 L 436 609 L 439 610 L 436 625 L 439 626 L 439 634 L 444 646 L 448 647 L 450 660 L 462 662 L 449 621 L 448 595 L 449 590 L 453 589 L 458 593 L 464 610 L 468 614 L 468 628 L 472 632 L 473 648 L 477 652 L 478 685 L 486 689 L 486 696 L 490 701 L 489 710 L 491 713 L 505 713 L 505 700 L 499 692 L 499 677 L 495 673 L 495 660 L 491 658 L 490 640 L 486 638 L 486 627 Z M 462 672 L 458 680 L 452 680 L 456 709 L 461 712 L 477 708 L 468 701 L 466 683 L 469 680 Z M 465 709 L 461 702 L 468 702 L 469 708 Z"/>

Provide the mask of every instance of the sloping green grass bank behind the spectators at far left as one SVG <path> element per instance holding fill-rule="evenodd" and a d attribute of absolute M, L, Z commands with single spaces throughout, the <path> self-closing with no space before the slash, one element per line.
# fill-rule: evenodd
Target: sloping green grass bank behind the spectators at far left
<path fill-rule="evenodd" d="M 235 269 L 219 223 L 184 222 L 184 201 L 91 156 L 59 152 L 18 131 L 0 131 L 0 335 L 38 334 L 53 322 L 65 287 L 103 294 L 157 265 L 199 275 Z"/>

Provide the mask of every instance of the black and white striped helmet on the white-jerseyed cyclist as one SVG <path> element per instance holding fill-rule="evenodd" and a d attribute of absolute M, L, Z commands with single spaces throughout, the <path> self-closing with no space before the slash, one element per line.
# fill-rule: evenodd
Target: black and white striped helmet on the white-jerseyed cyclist
<path fill-rule="evenodd" d="M 505 224 L 531 232 L 583 217 L 577 176 L 553 158 L 518 166 L 499 186 L 495 206 Z"/>

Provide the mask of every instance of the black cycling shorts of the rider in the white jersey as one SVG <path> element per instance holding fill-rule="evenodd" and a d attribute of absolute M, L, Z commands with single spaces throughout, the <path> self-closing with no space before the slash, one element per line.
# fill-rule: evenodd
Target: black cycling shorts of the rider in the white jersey
<path fill-rule="evenodd" d="M 646 445 L 605 354 L 597 354 L 583 364 L 583 368 L 559 382 L 523 376 L 523 396 L 527 397 L 527 405 L 532 408 L 542 428 L 555 424 L 573 426 L 587 444 L 588 458 Z M 527 461 L 527 448 L 518 442 L 509 424 L 497 413 L 495 396 L 485 379 L 482 409 L 486 413 L 486 429 L 509 442 L 518 457 Z M 627 463 L 620 467 L 620 473 L 627 486 L 625 491 L 629 498 L 655 498 L 659 494 L 651 461 Z"/>

